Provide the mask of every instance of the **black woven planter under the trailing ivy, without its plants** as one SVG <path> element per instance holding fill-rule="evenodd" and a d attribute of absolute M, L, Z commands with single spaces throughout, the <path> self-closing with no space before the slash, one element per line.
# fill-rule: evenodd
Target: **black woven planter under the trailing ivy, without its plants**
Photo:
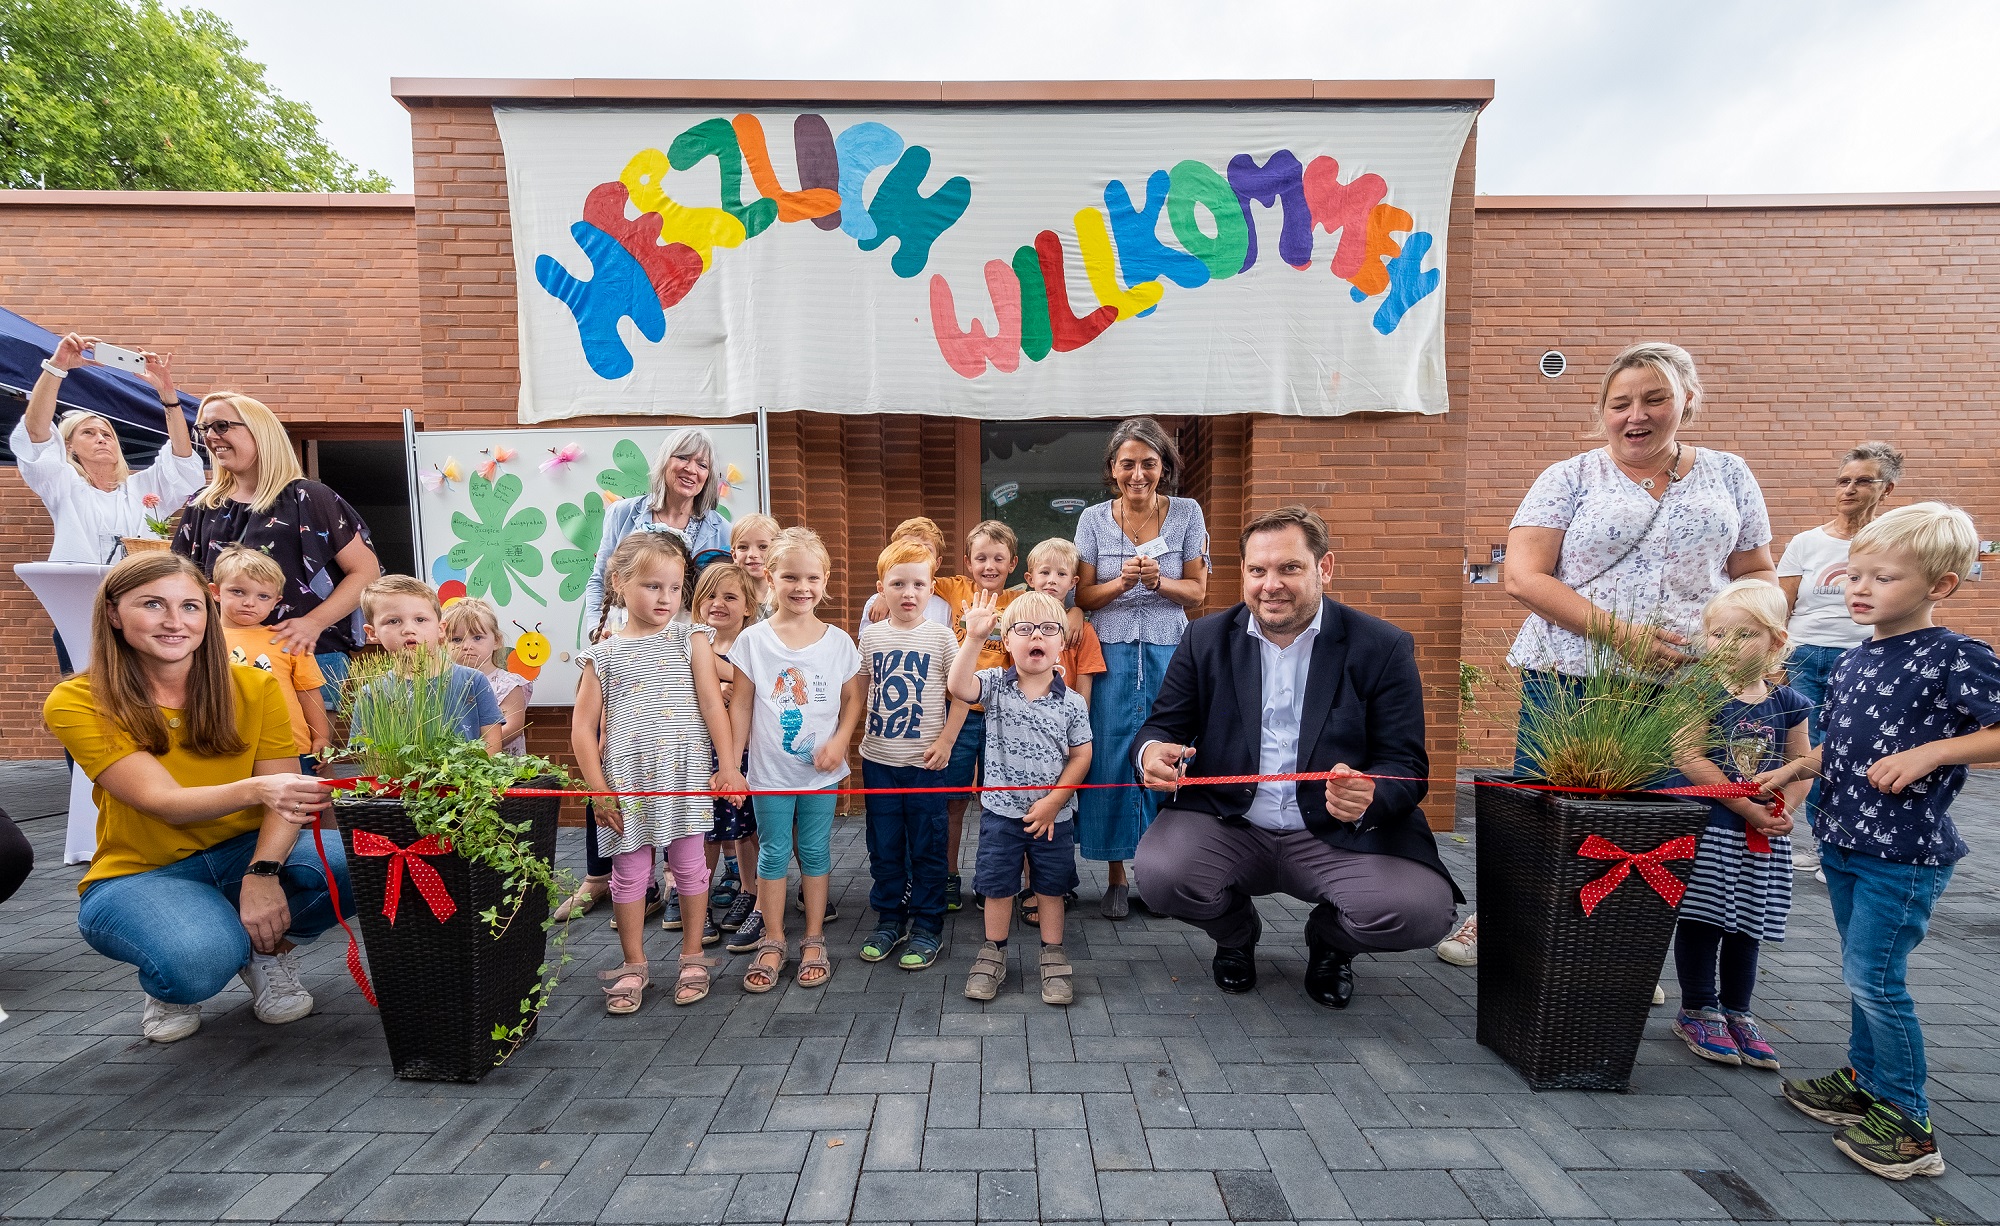
<path fill-rule="evenodd" d="M 554 780 L 526 786 L 552 788 Z M 558 796 L 520 796 L 500 802 L 508 822 L 530 822 L 528 842 L 538 856 L 556 856 Z M 530 890 L 526 904 L 500 940 L 480 912 L 500 906 L 500 874 L 452 854 L 424 856 L 456 904 L 444 922 L 432 914 L 408 868 L 402 874 L 396 920 L 382 914 L 394 856 L 360 856 L 356 832 L 380 834 L 398 848 L 418 842 L 402 800 L 336 800 L 340 838 L 348 852 L 354 910 L 368 948 L 368 978 L 382 1010 L 382 1034 L 396 1076 L 418 1082 L 476 1082 L 486 1076 L 506 1044 L 492 1038 L 494 1024 L 520 1022 L 520 1002 L 540 980 L 546 956 L 548 898 Z M 532 1028 L 530 1028 L 532 1036 Z"/>

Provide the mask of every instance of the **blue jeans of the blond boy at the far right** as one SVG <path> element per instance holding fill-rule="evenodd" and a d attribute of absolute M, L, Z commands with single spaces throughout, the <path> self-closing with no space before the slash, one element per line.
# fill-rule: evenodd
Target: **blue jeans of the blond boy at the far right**
<path fill-rule="evenodd" d="M 1862 1090 L 1928 1120 L 1924 1028 L 1906 980 L 1952 866 L 1894 864 L 1830 842 L 1820 844 L 1820 866 L 1840 928 L 1840 978 L 1854 1000 L 1848 1064 Z"/>

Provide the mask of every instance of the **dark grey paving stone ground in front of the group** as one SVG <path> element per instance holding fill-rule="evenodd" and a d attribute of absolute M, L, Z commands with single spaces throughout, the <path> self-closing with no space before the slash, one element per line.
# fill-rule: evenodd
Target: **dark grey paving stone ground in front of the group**
<path fill-rule="evenodd" d="M 0 768 L 0 790 L 48 786 Z M 40 780 L 40 784 L 36 784 Z M 54 780 L 60 790 L 60 778 Z M 36 808 L 36 806 L 30 806 Z M 42 806 L 46 808 L 46 806 Z M 1470 890 L 1470 808 L 1446 860 Z M 1654 1010 L 1630 1094 L 1532 1094 L 1474 1040 L 1474 974 L 1362 958 L 1346 1012 L 1310 1004 L 1304 908 L 1266 900 L 1262 986 L 1220 996 L 1182 924 L 1068 924 L 1078 1002 L 960 996 L 966 910 L 928 972 L 854 956 L 860 822 L 836 826 L 822 990 L 660 990 L 606 1018 L 606 910 L 542 1034 L 478 1086 L 400 1082 L 340 942 L 306 958 L 318 1012 L 250 1016 L 240 986 L 174 1046 L 138 1036 L 134 972 L 76 936 L 60 818 L 0 906 L 0 1216 L 118 1222 L 1980 1222 L 2000 1220 L 2000 778 L 1912 960 L 1950 1174 L 1888 1184 L 1782 1106 L 1778 1074 L 1702 1064 Z M 566 864 L 582 856 L 564 832 Z M 1848 1004 L 1826 890 L 1800 878 L 1760 1014 L 1792 1068 L 1842 1060 Z M 666 956 L 674 934 L 654 930 Z M 1020 942 L 1016 942 L 1018 948 Z M 1030 966 L 1032 970 L 1032 966 Z M 1670 978 L 1670 976 L 1668 976 Z"/>

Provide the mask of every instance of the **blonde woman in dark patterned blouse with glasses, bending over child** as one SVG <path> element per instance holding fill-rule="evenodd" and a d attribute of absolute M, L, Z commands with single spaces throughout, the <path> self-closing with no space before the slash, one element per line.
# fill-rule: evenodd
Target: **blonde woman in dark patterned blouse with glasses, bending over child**
<path fill-rule="evenodd" d="M 306 480 L 284 424 L 242 392 L 202 396 L 196 430 L 216 464 L 208 488 L 188 504 L 174 552 L 202 572 L 224 548 L 242 544 L 284 570 L 270 612 L 272 644 L 312 652 L 330 682 L 348 674 L 346 656 L 362 642 L 362 588 L 382 574 L 360 512 L 316 480 Z"/>

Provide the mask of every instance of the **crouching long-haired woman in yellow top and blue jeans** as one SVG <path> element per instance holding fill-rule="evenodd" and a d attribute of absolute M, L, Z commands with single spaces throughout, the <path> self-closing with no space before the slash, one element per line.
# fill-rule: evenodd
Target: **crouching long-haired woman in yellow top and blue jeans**
<path fill-rule="evenodd" d="M 98 852 L 78 890 L 90 948 L 138 966 L 142 1030 L 174 1042 L 242 974 L 262 1022 L 312 1012 L 292 948 L 334 926 L 326 872 L 298 844 L 328 784 L 298 774 L 278 680 L 232 666 L 222 614 L 180 554 L 104 576 L 90 672 L 42 720 L 96 784 Z M 340 840 L 326 858 L 352 914 Z"/>

